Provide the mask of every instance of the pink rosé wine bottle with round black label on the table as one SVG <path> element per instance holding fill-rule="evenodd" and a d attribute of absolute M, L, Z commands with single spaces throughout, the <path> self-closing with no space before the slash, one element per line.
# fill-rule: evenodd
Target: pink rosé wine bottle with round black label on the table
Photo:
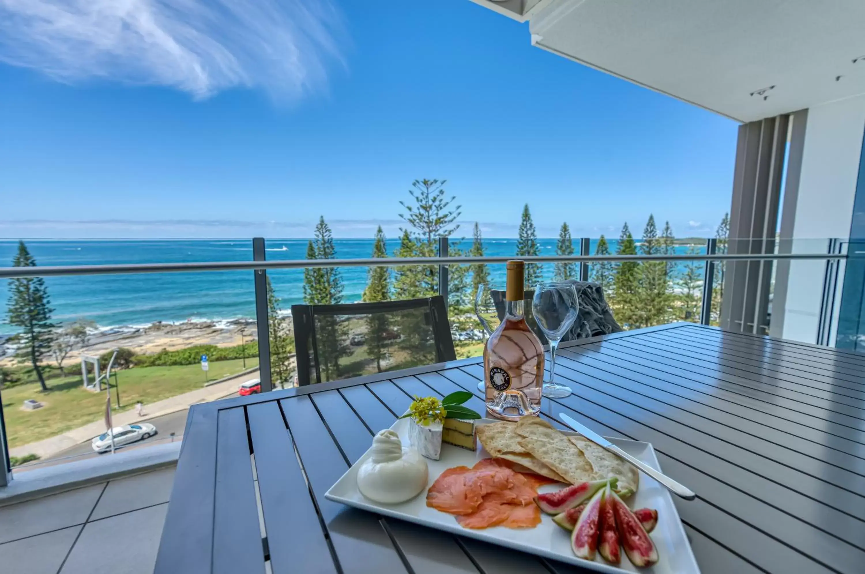
<path fill-rule="evenodd" d="M 504 319 L 484 347 L 487 412 L 503 420 L 536 417 L 541 411 L 544 355 L 522 316 L 524 265 L 508 262 Z"/>

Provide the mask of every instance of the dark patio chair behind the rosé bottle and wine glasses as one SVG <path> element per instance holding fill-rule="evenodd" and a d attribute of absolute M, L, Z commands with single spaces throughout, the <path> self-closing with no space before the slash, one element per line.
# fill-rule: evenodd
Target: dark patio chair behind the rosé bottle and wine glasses
<path fill-rule="evenodd" d="M 577 281 L 576 279 L 571 279 L 565 283 L 573 284 L 576 288 L 577 297 L 580 298 L 580 310 L 576 321 L 573 322 L 573 327 L 561 338 L 561 341 L 608 335 L 623 330 L 616 322 L 615 317 L 612 316 L 612 309 L 606 303 L 604 290 L 599 284 Z M 504 317 L 504 291 L 492 290 L 490 293 L 493 302 L 496 303 L 498 318 L 502 319 Z M 526 317 L 526 323 L 529 324 L 529 328 L 538 336 L 541 343 L 547 345 L 549 342 L 547 336 L 538 327 L 535 315 L 532 313 L 532 297 L 535 297 L 535 290 L 526 290 L 523 297 L 522 312 Z"/>

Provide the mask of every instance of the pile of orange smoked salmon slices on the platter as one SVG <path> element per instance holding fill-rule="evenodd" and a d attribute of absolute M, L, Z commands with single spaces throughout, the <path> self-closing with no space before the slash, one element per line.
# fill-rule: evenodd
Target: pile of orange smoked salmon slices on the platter
<path fill-rule="evenodd" d="M 426 506 L 456 514 L 464 528 L 532 528 L 541 523 L 534 503 L 537 487 L 534 475 L 514 471 L 507 461 L 487 458 L 472 469 L 445 470 L 427 491 Z"/>

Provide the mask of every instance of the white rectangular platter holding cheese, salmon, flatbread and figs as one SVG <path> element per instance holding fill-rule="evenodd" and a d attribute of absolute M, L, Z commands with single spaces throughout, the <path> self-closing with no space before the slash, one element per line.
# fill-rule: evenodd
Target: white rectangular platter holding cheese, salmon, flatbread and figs
<path fill-rule="evenodd" d="M 495 422 L 497 421 L 484 418 L 477 420 L 475 424 L 490 424 Z M 410 446 L 408 441 L 409 423 L 410 421 L 407 418 L 403 418 L 397 420 L 391 427 L 391 429 L 400 435 L 403 446 Z M 565 434 L 576 435 L 578 433 L 566 432 Z M 639 443 L 624 438 L 612 437 L 609 440 L 631 456 L 635 456 L 639 460 L 649 464 L 652 468 L 660 470 L 655 450 L 652 449 L 650 443 Z M 371 501 L 357 489 L 357 469 L 362 462 L 367 460 L 369 455 L 370 453 L 367 451 L 366 454 L 361 456 L 354 466 L 336 484 L 330 487 L 330 490 L 324 494 L 325 498 L 341 502 L 349 507 L 362 508 L 384 516 L 393 516 L 400 520 L 408 520 L 409 522 L 437 528 L 445 532 L 484 540 L 485 542 L 507 546 L 521 550 L 522 552 L 537 554 L 538 556 L 561 560 L 561 562 L 575 564 L 599 572 L 639 571 L 652 572 L 654 574 L 699 574 L 700 572 L 694 558 L 694 553 L 691 552 L 691 546 L 682 527 L 682 521 L 679 520 L 679 514 L 673 505 L 670 492 L 655 480 L 642 473 L 640 473 L 639 477 L 637 494 L 631 496 L 627 503 L 631 508 L 649 507 L 657 509 L 657 526 L 651 532 L 650 537 L 657 546 L 659 559 L 657 564 L 651 568 L 638 569 L 628 561 L 624 550 L 621 552 L 622 562 L 618 566 L 606 563 L 604 558 L 600 556 L 595 558 L 593 562 L 577 558 L 571 550 L 570 533 L 561 528 L 561 526 L 556 525 L 553 522 L 553 517 L 547 514 L 542 514 L 541 524 L 535 526 L 535 528 L 515 530 L 504 526 L 493 526 L 483 530 L 471 530 L 459 526 L 456 517 L 452 514 L 439 512 L 435 508 L 427 507 L 426 490 L 432 486 L 432 482 L 435 482 L 445 469 L 450 469 L 461 464 L 471 467 L 482 458 L 490 458 L 490 455 L 480 443 L 477 445 L 476 452 L 459 449 L 451 444 L 442 444 L 440 460 L 432 461 L 425 459 L 429 467 L 429 482 L 426 488 L 412 500 L 401 502 L 400 504 L 381 504 L 380 502 Z M 559 488 L 564 488 L 564 485 L 551 484 L 543 486 L 538 490 L 543 493 L 552 492 Z M 684 504 L 689 504 L 689 502 L 684 502 Z"/>

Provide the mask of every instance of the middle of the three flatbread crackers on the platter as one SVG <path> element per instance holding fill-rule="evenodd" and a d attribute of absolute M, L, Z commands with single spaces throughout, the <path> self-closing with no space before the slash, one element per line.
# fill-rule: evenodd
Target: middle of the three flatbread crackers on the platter
<path fill-rule="evenodd" d="M 522 436 L 519 441 L 523 449 L 562 475 L 567 482 L 591 481 L 594 469 L 583 451 L 567 440 L 567 436 L 540 418 L 522 418 L 516 432 Z"/>

